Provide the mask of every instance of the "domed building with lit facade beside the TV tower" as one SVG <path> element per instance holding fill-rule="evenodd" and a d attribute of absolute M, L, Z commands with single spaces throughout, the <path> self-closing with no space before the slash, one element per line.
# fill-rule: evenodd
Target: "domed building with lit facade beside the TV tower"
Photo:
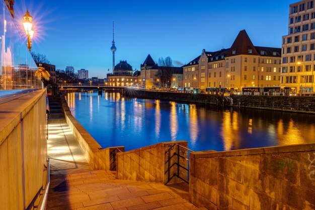
<path fill-rule="evenodd" d="M 126 60 L 121 60 L 115 65 L 113 74 L 107 74 L 110 86 L 137 86 L 140 83 L 140 72 L 133 72 L 132 66 Z"/>

